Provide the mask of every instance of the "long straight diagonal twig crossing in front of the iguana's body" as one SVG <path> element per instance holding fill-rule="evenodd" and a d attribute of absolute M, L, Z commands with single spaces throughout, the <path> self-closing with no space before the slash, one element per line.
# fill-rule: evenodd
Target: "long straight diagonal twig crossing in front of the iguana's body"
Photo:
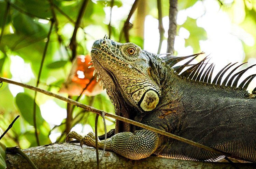
<path fill-rule="evenodd" d="M 90 106 L 86 106 L 86 105 L 84 105 L 84 104 L 82 104 L 82 103 L 80 103 L 80 102 L 74 101 L 74 100 L 72 100 L 72 99 L 69 99 L 69 98 L 60 96 L 60 95 L 58 95 L 58 94 L 54 94 L 54 93 L 52 93 L 52 92 L 49 92 L 49 91 L 46 91 L 46 90 L 43 90 L 43 89 L 40 89 L 40 88 L 37 88 L 37 87 L 30 86 L 30 85 L 28 85 L 28 84 L 16 82 L 16 81 L 13 81 L 13 80 L 10 80 L 10 79 L 6 79 L 6 78 L 3 78 L 3 77 L 0 77 L 0 81 L 2 81 L 2 82 L 7 82 L 7 83 L 11 83 L 11 84 L 15 84 L 15 85 L 18 85 L 18 86 L 21 86 L 21 87 L 24 87 L 24 88 L 28 88 L 28 89 L 31 89 L 31 90 L 34 90 L 34 91 L 43 93 L 43 94 L 48 95 L 48 96 L 55 97 L 55 98 L 57 98 L 57 99 L 66 101 L 66 102 L 68 102 L 68 103 L 70 103 L 70 104 L 76 105 L 77 107 L 81 107 L 81 108 L 83 108 L 83 109 L 85 109 L 85 110 L 87 110 L 87 111 L 90 111 L 90 112 L 93 112 L 93 113 L 96 113 L 96 114 L 99 114 L 99 115 L 102 115 L 102 114 L 104 113 L 105 116 L 112 117 L 112 118 L 114 118 L 114 119 L 121 120 L 121 121 L 124 121 L 124 122 L 126 122 L 126 123 L 129 123 L 129 124 L 132 124 L 132 125 L 135 125 L 135 126 L 138 126 L 138 127 L 144 128 L 144 129 L 147 129 L 147 130 L 151 130 L 151 131 L 156 132 L 156 133 L 159 133 L 159 134 L 161 134 L 161 135 L 165 135 L 165 136 L 167 136 L 167 137 L 171 137 L 171 138 L 173 138 L 173 139 L 179 140 L 179 141 L 181 141 L 181 142 L 184 142 L 184 143 L 187 143 L 187 144 L 196 146 L 196 147 L 198 147 L 198 148 L 201 148 L 201 149 L 204 149 L 204 150 L 207 150 L 207 151 L 211 151 L 211 152 L 216 153 L 216 154 L 219 154 L 219 155 L 231 156 L 230 153 L 222 152 L 222 151 L 220 151 L 220 150 L 217 150 L 217 149 L 214 149 L 214 148 L 211 148 L 211 147 L 204 146 L 204 145 L 202 145 L 202 144 L 199 144 L 199 143 L 193 142 L 193 141 L 191 141 L 191 140 L 185 139 L 185 138 L 183 138 L 183 137 L 180 137 L 180 136 L 177 136 L 177 135 L 168 133 L 168 132 L 166 132 L 166 131 L 162 131 L 162 130 L 156 129 L 156 128 L 151 127 L 151 126 L 147 126 L 147 125 L 145 125 L 145 124 L 139 123 L 139 122 L 134 121 L 134 120 L 130 120 L 130 119 L 127 119 L 127 118 L 124 118 L 124 117 L 121 117 L 121 116 L 117 116 L 117 115 L 115 115 L 115 114 L 111 114 L 111 113 L 107 113 L 107 112 L 102 111 L 102 110 L 95 109 L 95 108 L 90 107 Z M 231 157 L 236 158 L 236 159 L 242 159 L 242 160 L 248 161 L 248 160 L 246 160 L 246 159 L 243 159 L 243 158 L 237 157 L 237 156 L 231 156 Z"/>

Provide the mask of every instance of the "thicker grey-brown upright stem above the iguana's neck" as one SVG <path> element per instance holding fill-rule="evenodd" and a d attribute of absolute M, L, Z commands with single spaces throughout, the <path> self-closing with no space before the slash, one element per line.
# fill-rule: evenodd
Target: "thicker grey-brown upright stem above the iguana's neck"
<path fill-rule="evenodd" d="M 170 0 L 169 8 L 169 29 L 168 29 L 168 39 L 167 39 L 167 53 L 173 55 L 174 53 L 174 39 L 177 31 L 177 0 Z"/>

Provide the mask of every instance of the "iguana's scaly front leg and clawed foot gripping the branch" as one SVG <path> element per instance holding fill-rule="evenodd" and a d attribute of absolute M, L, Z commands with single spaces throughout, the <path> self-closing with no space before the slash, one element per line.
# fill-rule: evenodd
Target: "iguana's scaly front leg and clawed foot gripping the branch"
<path fill-rule="evenodd" d="M 76 132 L 70 132 L 66 140 L 74 138 L 80 141 L 80 145 L 83 144 L 91 147 L 96 147 L 95 134 L 90 132 L 84 137 Z M 122 155 L 130 159 L 146 158 L 153 154 L 158 146 L 158 134 L 150 130 L 137 130 L 134 133 L 122 132 L 117 133 L 106 141 L 106 150 L 114 151 L 115 153 Z M 103 149 L 104 140 L 98 139 L 98 147 Z"/>

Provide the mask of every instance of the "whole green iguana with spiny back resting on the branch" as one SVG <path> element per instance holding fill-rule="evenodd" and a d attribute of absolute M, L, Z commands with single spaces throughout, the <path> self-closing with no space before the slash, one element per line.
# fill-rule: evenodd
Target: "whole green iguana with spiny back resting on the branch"
<path fill-rule="evenodd" d="M 198 55 L 159 57 L 134 43 L 104 38 L 93 44 L 91 67 L 104 83 L 117 115 L 256 162 L 256 88 L 252 94 L 246 91 L 256 74 L 238 85 L 242 74 L 254 65 L 233 73 L 240 64 L 223 80 L 234 65 L 229 63 L 212 80 L 214 65 L 207 67 L 207 57 L 197 64 L 190 63 Z M 189 57 L 193 58 L 175 66 Z M 116 122 L 115 130 L 116 134 L 106 141 L 106 150 L 130 159 L 151 154 L 200 161 L 224 158 L 121 121 Z M 95 147 L 94 133 L 82 137 L 71 132 L 67 138 Z M 104 141 L 99 140 L 99 148 L 103 145 Z"/>

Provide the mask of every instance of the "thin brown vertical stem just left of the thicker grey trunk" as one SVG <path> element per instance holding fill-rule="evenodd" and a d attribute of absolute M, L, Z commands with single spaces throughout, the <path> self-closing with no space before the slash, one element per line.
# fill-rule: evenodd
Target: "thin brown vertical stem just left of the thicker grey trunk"
<path fill-rule="evenodd" d="M 160 53 L 162 42 L 163 42 L 163 36 L 165 34 L 165 29 L 163 28 L 163 16 L 162 16 L 162 2 L 161 0 L 157 0 L 157 8 L 158 8 L 158 30 L 159 30 L 159 45 L 157 54 Z"/>

